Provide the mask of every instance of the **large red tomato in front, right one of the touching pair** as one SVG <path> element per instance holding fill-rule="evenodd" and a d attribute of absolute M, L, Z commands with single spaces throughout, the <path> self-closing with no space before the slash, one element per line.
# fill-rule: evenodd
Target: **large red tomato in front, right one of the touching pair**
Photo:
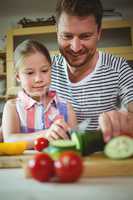
<path fill-rule="evenodd" d="M 81 157 L 73 151 L 66 151 L 55 161 L 55 173 L 60 182 L 74 182 L 83 171 Z"/>

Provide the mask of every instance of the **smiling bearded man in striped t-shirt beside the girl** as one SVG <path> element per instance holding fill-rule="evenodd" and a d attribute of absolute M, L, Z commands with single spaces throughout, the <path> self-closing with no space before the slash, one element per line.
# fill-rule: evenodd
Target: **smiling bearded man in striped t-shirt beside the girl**
<path fill-rule="evenodd" d="M 133 70 L 124 58 L 97 50 L 103 8 L 100 0 L 59 0 L 52 88 L 70 101 L 78 121 L 102 129 L 105 141 L 133 133 Z M 118 111 L 123 105 L 126 112 Z"/>

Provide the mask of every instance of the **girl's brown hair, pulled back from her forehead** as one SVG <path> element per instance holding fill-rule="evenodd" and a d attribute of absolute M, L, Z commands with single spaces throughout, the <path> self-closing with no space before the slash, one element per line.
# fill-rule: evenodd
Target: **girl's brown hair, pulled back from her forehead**
<path fill-rule="evenodd" d="M 40 52 L 41 54 L 43 54 L 47 58 L 48 62 L 51 64 L 51 57 L 48 49 L 42 43 L 36 40 L 28 39 L 20 43 L 14 51 L 15 70 L 19 69 L 25 57 L 36 52 Z"/>

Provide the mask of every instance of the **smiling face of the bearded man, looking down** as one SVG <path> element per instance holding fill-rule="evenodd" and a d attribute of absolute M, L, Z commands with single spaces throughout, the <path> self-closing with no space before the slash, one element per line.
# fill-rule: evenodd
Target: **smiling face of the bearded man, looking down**
<path fill-rule="evenodd" d="M 94 16 L 77 17 L 62 13 L 57 27 L 57 38 L 61 54 L 70 67 L 89 64 L 96 52 L 101 31 Z"/>

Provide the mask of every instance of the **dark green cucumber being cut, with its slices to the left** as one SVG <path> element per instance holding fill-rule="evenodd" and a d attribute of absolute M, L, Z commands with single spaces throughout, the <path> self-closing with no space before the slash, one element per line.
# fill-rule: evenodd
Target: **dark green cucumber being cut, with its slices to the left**
<path fill-rule="evenodd" d="M 50 142 L 44 152 L 49 153 L 54 159 L 63 151 L 77 151 L 83 156 L 90 155 L 104 149 L 103 135 L 100 131 L 73 132 L 71 140 L 54 140 Z"/>

